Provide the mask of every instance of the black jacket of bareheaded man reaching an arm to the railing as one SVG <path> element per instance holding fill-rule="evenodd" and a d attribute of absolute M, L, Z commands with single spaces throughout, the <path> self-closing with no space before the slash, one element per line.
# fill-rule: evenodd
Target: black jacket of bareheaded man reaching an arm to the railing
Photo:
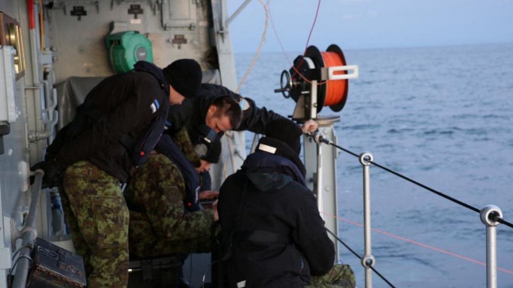
<path fill-rule="evenodd" d="M 201 124 L 205 124 L 206 112 L 208 107 L 212 105 L 214 100 L 223 96 L 230 96 L 239 102 L 241 95 L 231 91 L 230 89 L 216 84 L 201 84 L 198 97 L 194 100 L 184 100 L 180 107 L 172 106 L 169 109 L 168 121 L 171 123 L 172 129 L 168 129 L 170 133 L 179 131 L 182 127 L 191 130 Z M 280 114 L 268 111 L 265 107 L 258 108 L 255 102 L 249 98 L 244 98 L 249 103 L 249 108 L 243 111 L 242 122 L 240 126 L 234 130 L 249 130 L 255 133 L 263 133 L 265 125 L 275 119 L 283 118 Z M 243 109 L 243 107 L 242 107 Z"/>

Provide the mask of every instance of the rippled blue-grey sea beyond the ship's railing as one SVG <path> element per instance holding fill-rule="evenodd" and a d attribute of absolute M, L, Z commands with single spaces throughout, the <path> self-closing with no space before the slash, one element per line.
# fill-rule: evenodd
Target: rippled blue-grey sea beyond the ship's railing
<path fill-rule="evenodd" d="M 349 65 L 358 65 L 359 78 L 350 80 L 348 101 L 337 113 L 339 144 L 370 151 L 375 162 L 475 207 L 498 205 L 513 222 L 513 44 L 344 53 Z M 235 59 L 240 81 L 253 54 Z M 262 53 L 240 93 L 292 114 L 294 101 L 273 92 L 289 68 L 283 53 Z M 338 216 L 362 223 L 362 166 L 342 152 L 337 176 Z M 373 228 L 486 262 L 478 213 L 373 166 L 371 194 Z M 498 266 L 513 271 L 513 228 L 497 230 Z M 339 235 L 363 254 L 363 228 L 339 221 Z M 376 270 L 396 287 L 486 286 L 485 266 L 375 232 L 372 244 Z M 339 252 L 364 287 L 359 260 L 341 245 Z M 373 281 L 388 286 L 375 274 Z M 513 287 L 513 274 L 499 271 L 498 286 Z"/>

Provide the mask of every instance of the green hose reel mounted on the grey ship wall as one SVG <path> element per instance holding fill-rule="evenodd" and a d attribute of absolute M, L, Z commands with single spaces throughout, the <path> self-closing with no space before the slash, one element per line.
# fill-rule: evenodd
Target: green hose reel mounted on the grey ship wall
<path fill-rule="evenodd" d="M 138 61 L 153 62 L 151 42 L 137 31 L 109 34 L 105 37 L 109 49 L 109 59 L 116 73 L 134 69 Z"/>

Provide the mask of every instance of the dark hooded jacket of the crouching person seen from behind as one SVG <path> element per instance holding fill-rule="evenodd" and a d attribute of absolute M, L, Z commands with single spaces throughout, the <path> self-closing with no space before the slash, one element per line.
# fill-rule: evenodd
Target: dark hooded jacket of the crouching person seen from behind
<path fill-rule="evenodd" d="M 246 288 L 299 288 L 310 283 L 310 275 L 333 266 L 334 245 L 299 174 L 292 161 L 258 151 L 221 186 L 221 266 L 227 287 L 245 281 Z"/>

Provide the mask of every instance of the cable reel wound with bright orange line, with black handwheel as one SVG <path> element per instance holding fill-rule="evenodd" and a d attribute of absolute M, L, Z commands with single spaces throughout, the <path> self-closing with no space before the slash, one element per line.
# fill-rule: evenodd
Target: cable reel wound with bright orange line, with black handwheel
<path fill-rule="evenodd" d="M 348 73 L 350 70 L 352 73 Z M 315 119 L 322 107 L 329 106 L 335 112 L 342 110 L 349 79 L 357 77 L 358 66 L 348 66 L 337 45 L 330 45 L 325 52 L 309 46 L 305 55 L 296 57 L 293 67 L 281 72 L 280 89 L 274 91 L 297 103 L 293 119 Z"/>

